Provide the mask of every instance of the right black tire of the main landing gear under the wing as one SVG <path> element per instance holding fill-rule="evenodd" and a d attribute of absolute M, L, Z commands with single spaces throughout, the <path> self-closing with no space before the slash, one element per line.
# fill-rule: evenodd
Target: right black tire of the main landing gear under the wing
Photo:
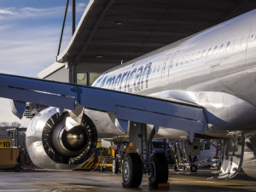
<path fill-rule="evenodd" d="M 158 187 L 159 183 L 168 181 L 169 169 L 165 154 L 151 154 L 152 173 L 148 177 L 149 186 Z"/>

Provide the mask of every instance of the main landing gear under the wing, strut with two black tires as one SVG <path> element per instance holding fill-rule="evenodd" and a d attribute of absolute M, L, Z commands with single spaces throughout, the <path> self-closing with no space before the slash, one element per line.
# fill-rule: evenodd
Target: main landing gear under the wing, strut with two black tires
<path fill-rule="evenodd" d="M 137 188 L 143 173 L 148 175 L 148 184 L 157 188 L 168 181 L 168 163 L 165 154 L 153 154 L 150 149 L 155 129 L 147 137 L 147 125 L 130 123 L 130 142 L 137 146 L 137 153 L 125 154 L 122 165 L 123 186 Z"/>

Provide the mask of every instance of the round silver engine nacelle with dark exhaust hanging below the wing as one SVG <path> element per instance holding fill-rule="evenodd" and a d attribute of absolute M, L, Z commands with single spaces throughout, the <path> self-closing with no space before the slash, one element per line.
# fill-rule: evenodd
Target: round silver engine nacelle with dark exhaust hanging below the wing
<path fill-rule="evenodd" d="M 72 170 L 94 153 L 97 131 L 92 120 L 84 114 L 82 125 L 67 131 L 68 115 L 46 108 L 32 119 L 26 131 L 26 149 L 36 166 Z"/>

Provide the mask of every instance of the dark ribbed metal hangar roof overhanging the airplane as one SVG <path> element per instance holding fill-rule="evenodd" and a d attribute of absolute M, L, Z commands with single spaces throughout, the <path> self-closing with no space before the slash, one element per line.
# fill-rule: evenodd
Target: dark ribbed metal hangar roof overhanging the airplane
<path fill-rule="evenodd" d="M 90 0 L 57 61 L 119 65 L 255 8 L 254 0 Z"/>

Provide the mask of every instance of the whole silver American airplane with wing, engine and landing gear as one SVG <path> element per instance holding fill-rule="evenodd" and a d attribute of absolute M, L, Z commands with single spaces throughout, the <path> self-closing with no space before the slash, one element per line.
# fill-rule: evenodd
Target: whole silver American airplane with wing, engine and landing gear
<path fill-rule="evenodd" d="M 223 137 L 218 178 L 243 169 L 256 177 L 256 10 L 227 20 L 163 51 L 103 73 L 92 86 L 0 74 L 0 96 L 19 117 L 26 102 L 51 106 L 26 131 L 35 165 L 73 169 L 90 158 L 97 138 L 135 143 L 125 154 L 123 186 L 168 181 L 168 165 L 151 154 L 154 138 Z M 125 141 L 127 141 L 125 140 Z"/>

